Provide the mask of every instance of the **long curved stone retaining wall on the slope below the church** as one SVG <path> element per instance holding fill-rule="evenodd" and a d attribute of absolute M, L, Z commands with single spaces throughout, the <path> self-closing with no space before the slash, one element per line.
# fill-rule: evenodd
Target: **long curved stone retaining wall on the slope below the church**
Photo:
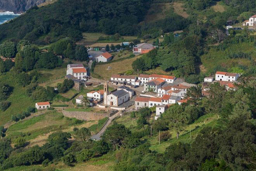
<path fill-rule="evenodd" d="M 110 117 L 110 113 L 97 113 L 97 112 L 78 112 L 78 111 L 65 111 L 62 110 L 62 114 L 66 117 L 74 117 L 76 119 L 92 121 L 92 120 L 100 120 L 105 117 Z"/>

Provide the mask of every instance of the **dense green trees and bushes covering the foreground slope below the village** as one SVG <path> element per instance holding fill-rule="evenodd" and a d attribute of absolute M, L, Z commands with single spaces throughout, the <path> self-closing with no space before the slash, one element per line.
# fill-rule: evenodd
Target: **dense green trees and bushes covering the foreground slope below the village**
<path fill-rule="evenodd" d="M 114 171 L 253 170 L 256 90 L 254 80 L 245 77 L 242 80 L 235 91 L 227 91 L 218 83 L 211 85 L 209 97 L 202 97 L 200 86 L 192 87 L 187 93 L 190 97 L 187 103 L 171 105 L 157 121 L 150 119 L 153 108 L 142 108 L 131 113 L 131 117 L 137 120 L 136 126 L 126 127 L 114 121 L 100 141 L 88 139 L 90 128 L 74 128 L 71 133 L 52 133 L 42 147 L 24 149 L 27 136 L 16 138 L 16 148 L 13 149 L 7 136 L 0 140 L 1 169 L 32 164 L 42 164 L 42 169 L 47 169 L 59 161 L 72 167 L 100 159 L 100 156 L 115 156 L 111 159 L 116 160 Z M 191 130 L 193 138 L 186 138 L 189 141 L 183 138 L 187 136 L 183 133 L 187 126 L 213 115 L 217 117 L 210 122 L 212 124 Z M 17 128 L 14 125 L 10 131 Z M 169 144 L 163 153 L 150 150 L 151 141 L 158 139 L 159 131 L 161 143 Z M 68 143 L 71 136 L 75 140 Z"/>

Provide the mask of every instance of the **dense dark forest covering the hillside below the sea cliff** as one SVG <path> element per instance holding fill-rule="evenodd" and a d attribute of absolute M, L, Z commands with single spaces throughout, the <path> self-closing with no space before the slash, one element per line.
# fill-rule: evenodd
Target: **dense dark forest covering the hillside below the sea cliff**
<path fill-rule="evenodd" d="M 33 7 L 12 22 L 1 25 L 0 39 L 25 39 L 45 44 L 62 35 L 77 41 L 84 31 L 135 35 L 147 6 L 145 0 L 97 0 L 93 4 L 89 0 L 62 0 L 40 8 Z M 45 38 L 38 39 L 42 35 L 46 35 Z"/>

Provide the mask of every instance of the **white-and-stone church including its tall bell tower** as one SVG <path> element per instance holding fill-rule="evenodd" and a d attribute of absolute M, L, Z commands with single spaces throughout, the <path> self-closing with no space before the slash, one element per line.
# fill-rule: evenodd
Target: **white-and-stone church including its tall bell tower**
<path fill-rule="evenodd" d="M 104 84 L 104 105 L 105 106 L 119 106 L 124 104 L 134 95 L 133 90 L 128 87 L 121 86 L 115 92 L 108 92 L 107 82 Z"/>

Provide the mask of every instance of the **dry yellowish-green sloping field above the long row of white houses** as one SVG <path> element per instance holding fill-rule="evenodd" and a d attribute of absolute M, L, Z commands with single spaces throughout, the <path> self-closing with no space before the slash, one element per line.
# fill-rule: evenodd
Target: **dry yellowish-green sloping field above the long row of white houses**
<path fill-rule="evenodd" d="M 125 59 L 119 62 L 112 62 L 109 64 L 104 64 L 104 65 L 96 65 L 94 69 L 94 73 L 99 74 L 102 76 L 104 79 L 109 79 L 112 74 L 118 74 L 118 73 L 123 73 L 128 70 L 133 70 L 132 69 L 132 62 L 138 59 L 140 56 L 131 58 L 131 59 Z M 112 69 L 107 70 L 108 67 L 111 67 Z"/>

